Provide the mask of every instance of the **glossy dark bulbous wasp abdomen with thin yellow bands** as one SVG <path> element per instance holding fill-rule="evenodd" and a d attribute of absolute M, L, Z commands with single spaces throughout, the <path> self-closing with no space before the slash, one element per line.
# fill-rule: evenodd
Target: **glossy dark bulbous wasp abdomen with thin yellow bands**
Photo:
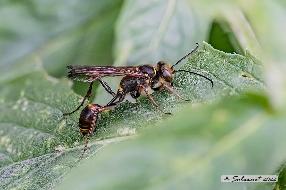
<path fill-rule="evenodd" d="M 97 120 L 99 112 L 96 112 L 96 111 L 100 107 L 101 106 L 98 104 L 89 104 L 80 113 L 80 120 L 78 123 L 80 126 L 80 132 L 82 132 L 83 136 L 88 134 L 94 117 L 96 117 L 96 120 Z"/>

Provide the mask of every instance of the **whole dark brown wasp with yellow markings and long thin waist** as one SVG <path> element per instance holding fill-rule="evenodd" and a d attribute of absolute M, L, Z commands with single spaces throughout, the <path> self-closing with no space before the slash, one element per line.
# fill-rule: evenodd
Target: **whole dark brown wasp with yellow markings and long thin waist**
<path fill-rule="evenodd" d="M 89 82 L 90 87 L 81 105 L 73 112 L 63 114 L 63 117 L 75 113 L 80 109 L 80 107 L 84 105 L 84 101 L 86 100 L 86 98 L 89 99 L 91 95 L 92 84 L 93 81 L 95 80 L 98 80 L 102 84 L 104 89 L 113 96 L 112 100 L 107 105 L 102 107 L 98 104 L 89 104 L 80 113 L 80 119 L 79 119 L 80 131 L 82 132 L 83 136 L 88 134 L 88 137 L 86 139 L 86 146 L 84 148 L 84 152 L 81 156 L 81 159 L 83 158 L 84 153 L 86 152 L 88 140 L 90 136 L 92 136 L 93 134 L 95 123 L 98 120 L 98 114 L 102 111 L 110 110 L 116 107 L 120 102 L 124 100 L 126 95 L 130 94 L 131 97 L 136 99 L 137 102 L 137 98 L 140 97 L 141 92 L 144 91 L 147 94 L 148 98 L 156 106 L 156 108 L 164 113 L 164 111 L 158 106 L 158 104 L 151 97 L 150 93 L 147 91 L 147 88 L 150 87 L 154 91 L 159 91 L 162 88 L 167 88 L 171 93 L 173 93 L 180 99 L 188 101 L 188 99 L 184 99 L 171 88 L 173 84 L 173 75 L 176 72 L 183 71 L 204 77 L 205 79 L 209 80 L 212 83 L 213 87 L 214 84 L 212 80 L 209 79 L 208 77 L 205 77 L 201 74 L 194 73 L 191 71 L 174 70 L 174 67 L 178 63 L 180 63 L 182 60 L 190 56 L 193 52 L 195 52 L 198 49 L 199 44 L 198 43 L 196 44 L 197 47 L 192 52 L 184 56 L 182 59 L 176 62 L 176 64 L 174 64 L 172 67 L 170 67 L 169 64 L 167 64 L 164 61 L 158 62 L 156 67 L 152 65 L 141 65 L 138 67 L 67 66 L 67 68 L 71 70 L 69 71 L 70 74 L 67 76 L 68 78 Z M 123 76 L 122 80 L 120 81 L 117 93 L 114 93 L 112 89 L 108 86 L 108 84 L 102 79 L 103 77 L 114 77 L 114 76 Z M 165 113 L 165 114 L 170 114 L 170 113 Z"/>

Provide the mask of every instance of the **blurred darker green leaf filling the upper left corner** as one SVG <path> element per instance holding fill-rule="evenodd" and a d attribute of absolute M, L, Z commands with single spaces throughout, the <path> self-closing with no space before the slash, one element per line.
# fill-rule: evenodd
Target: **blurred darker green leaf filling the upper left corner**
<path fill-rule="evenodd" d="M 1 1 L 1 78 L 25 75 L 23 69 L 33 72 L 27 68 L 33 67 L 35 56 L 56 77 L 65 75 L 65 66 L 72 64 L 111 65 L 121 4 L 122 0 Z"/>

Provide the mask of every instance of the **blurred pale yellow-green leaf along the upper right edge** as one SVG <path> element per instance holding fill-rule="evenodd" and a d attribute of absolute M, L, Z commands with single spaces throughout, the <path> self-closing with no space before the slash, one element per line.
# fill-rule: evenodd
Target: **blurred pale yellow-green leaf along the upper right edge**
<path fill-rule="evenodd" d="M 269 93 L 277 109 L 286 106 L 285 1 L 246 1 L 240 6 L 264 52 Z"/>

